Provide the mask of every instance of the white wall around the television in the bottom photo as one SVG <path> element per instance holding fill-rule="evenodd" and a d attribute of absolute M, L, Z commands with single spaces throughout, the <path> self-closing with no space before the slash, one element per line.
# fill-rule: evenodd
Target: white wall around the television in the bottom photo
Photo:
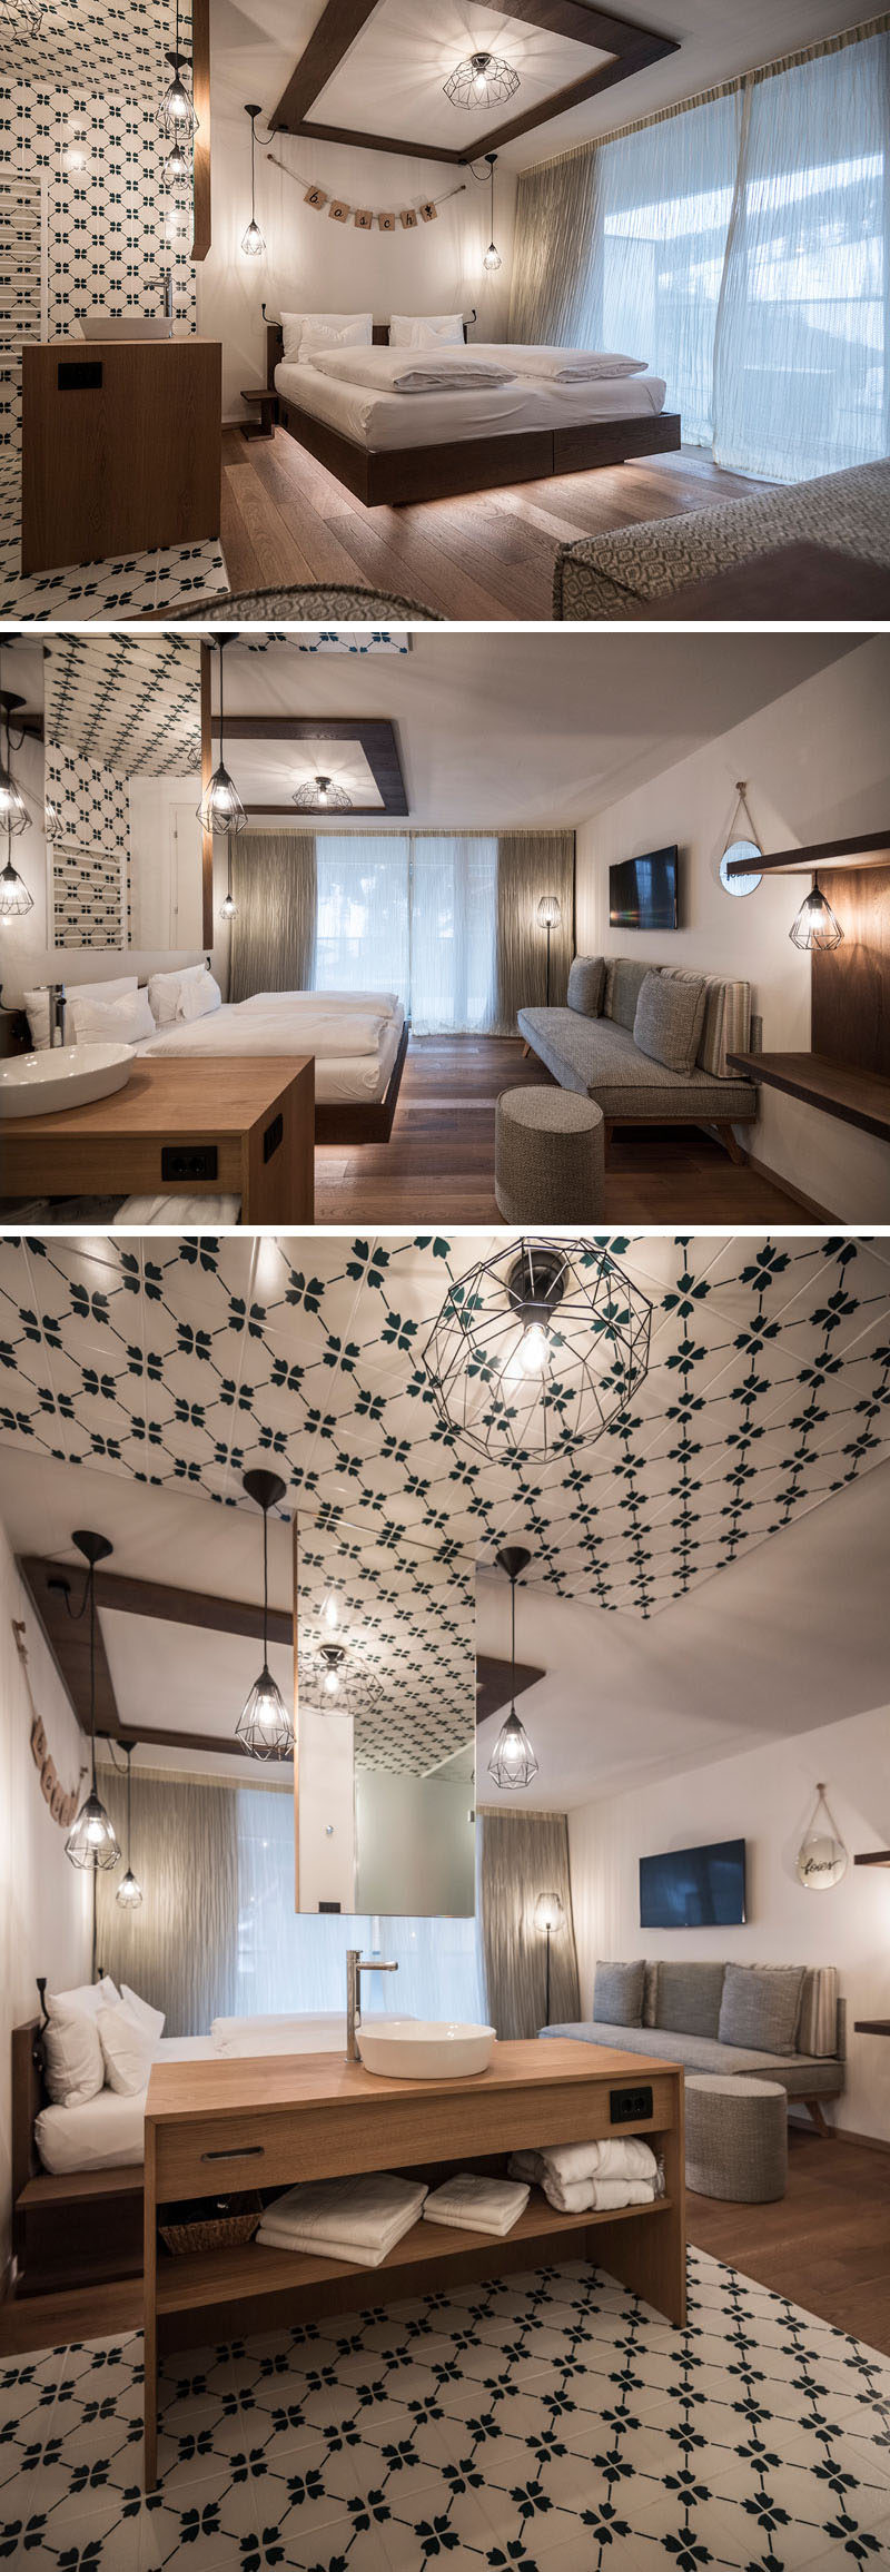
<path fill-rule="evenodd" d="M 854 2019 L 890 2014 L 890 1867 L 849 1865 L 831 1893 L 808 1893 L 795 1857 L 815 1785 L 846 1849 L 890 1847 L 890 1728 L 875 1708 L 792 1741 L 769 1741 L 661 1785 L 638 1785 L 568 1813 L 571 1906 L 581 2016 L 592 2014 L 597 1957 L 725 1957 L 738 1965 L 836 1965 L 846 1998 L 846 2091 L 836 2127 L 890 2142 L 890 2045 L 857 2037 Z M 749 1844 L 743 1929 L 640 1929 L 638 1860 L 658 1849 Z"/>

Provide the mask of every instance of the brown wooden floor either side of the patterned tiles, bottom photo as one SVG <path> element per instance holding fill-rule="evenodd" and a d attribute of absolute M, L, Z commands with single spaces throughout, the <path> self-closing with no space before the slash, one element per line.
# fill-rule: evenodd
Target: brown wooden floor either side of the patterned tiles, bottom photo
<path fill-rule="evenodd" d="M 890 2356 L 890 2155 L 790 2132 L 787 2196 L 728 2207 L 687 2196 L 689 2243 Z M 0 2305 L 0 2361 L 141 2330 L 141 2279 Z"/>

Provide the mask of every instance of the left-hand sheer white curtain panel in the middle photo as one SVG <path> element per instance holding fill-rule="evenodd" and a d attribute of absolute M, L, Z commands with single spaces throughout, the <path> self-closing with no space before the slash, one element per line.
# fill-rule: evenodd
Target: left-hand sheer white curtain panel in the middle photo
<path fill-rule="evenodd" d="M 316 990 L 409 1003 L 409 833 L 319 831 Z"/>

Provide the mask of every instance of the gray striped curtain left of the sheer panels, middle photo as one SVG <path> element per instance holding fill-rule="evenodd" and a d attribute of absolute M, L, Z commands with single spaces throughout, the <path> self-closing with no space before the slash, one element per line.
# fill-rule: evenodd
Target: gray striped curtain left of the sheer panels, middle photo
<path fill-rule="evenodd" d="M 311 990 L 316 970 L 314 831 L 239 831 L 232 844 L 229 1001 Z"/>

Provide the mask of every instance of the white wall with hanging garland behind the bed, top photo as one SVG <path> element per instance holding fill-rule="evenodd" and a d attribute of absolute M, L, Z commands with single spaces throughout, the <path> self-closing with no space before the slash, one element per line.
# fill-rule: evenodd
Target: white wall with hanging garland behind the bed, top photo
<path fill-rule="evenodd" d="M 268 131 L 260 118 L 260 131 Z M 514 180 L 496 172 L 496 247 L 502 270 L 484 273 L 489 247 L 489 188 L 448 162 L 422 162 L 394 152 L 355 152 L 345 144 L 316 144 L 306 136 L 275 134 L 278 170 L 257 149 L 257 224 L 265 239 L 262 260 L 244 260 L 242 234 L 250 221 L 250 121 L 213 116 L 213 244 L 198 267 L 198 332 L 224 342 L 224 419 L 244 419 L 242 383 L 265 383 L 265 324 L 286 311 L 391 311 L 437 314 L 473 306 L 473 340 L 504 340 L 509 303 Z M 435 224 L 417 231 L 355 231 L 332 224 L 327 206 L 314 213 L 304 203 L 309 185 L 337 193 L 347 206 L 417 206 L 422 195 L 466 193 L 440 206 Z"/>

